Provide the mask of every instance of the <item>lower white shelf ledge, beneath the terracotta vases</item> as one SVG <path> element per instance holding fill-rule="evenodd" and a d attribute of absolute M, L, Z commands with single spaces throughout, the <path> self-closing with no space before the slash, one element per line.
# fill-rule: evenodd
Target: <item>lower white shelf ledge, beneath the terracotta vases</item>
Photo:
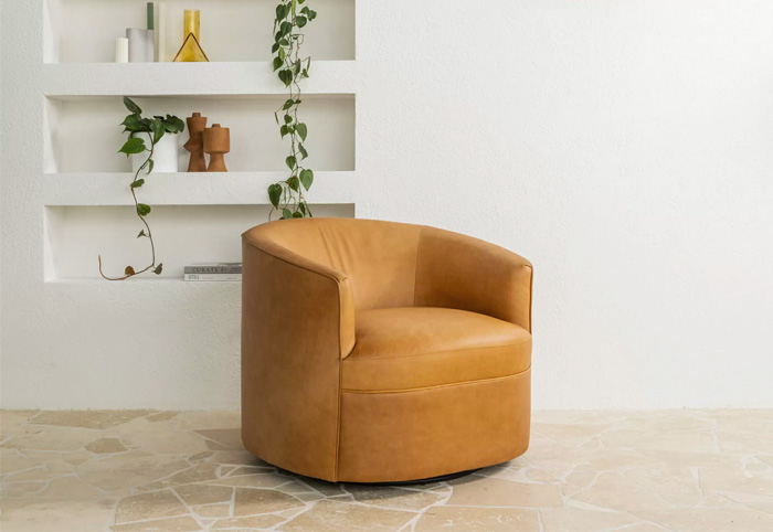
<path fill-rule="evenodd" d="M 267 205 L 269 184 L 288 172 L 152 173 L 138 193 L 149 205 Z M 46 173 L 44 204 L 129 205 L 131 173 Z M 314 204 L 357 203 L 356 172 L 315 172 Z"/>

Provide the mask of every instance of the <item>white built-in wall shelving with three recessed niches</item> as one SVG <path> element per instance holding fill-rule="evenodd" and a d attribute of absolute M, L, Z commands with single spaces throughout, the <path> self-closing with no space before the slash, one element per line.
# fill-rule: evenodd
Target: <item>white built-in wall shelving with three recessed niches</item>
<path fill-rule="evenodd" d="M 274 117 L 288 97 L 271 65 L 276 1 L 165 0 L 166 52 L 155 63 L 114 63 L 116 38 L 127 28 L 145 28 L 146 0 L 42 3 L 43 64 L 35 65 L 42 75 L 30 92 L 43 95 L 44 157 L 30 164 L 38 169 L 47 287 L 63 294 L 162 289 L 186 306 L 198 298 L 202 307 L 214 295 L 233 292 L 237 301 L 237 283 L 184 283 L 182 276 L 188 264 L 241 260 L 241 234 L 269 220 L 266 189 L 289 177 L 289 141 Z M 303 53 L 313 61 L 299 118 L 308 126 L 304 166 L 315 171 L 315 181 L 306 196 L 315 216 L 353 217 L 363 190 L 356 164 L 361 83 L 354 3 L 320 0 L 319 17 L 304 30 Z M 184 9 L 201 10 L 208 63 L 171 62 L 183 40 Z M 189 173 L 182 149 L 188 130 L 176 137 L 180 171 L 144 175 L 138 192 L 152 208 L 148 222 L 163 273 L 107 283 L 98 274 L 98 255 L 109 275 L 149 259 L 147 240 L 137 238 L 142 226 L 129 192 L 131 164 L 118 152 L 127 138 L 119 126 L 128 114 L 123 96 L 145 116 L 184 120 L 201 113 L 208 125 L 231 129 L 231 152 L 229 172 Z"/>

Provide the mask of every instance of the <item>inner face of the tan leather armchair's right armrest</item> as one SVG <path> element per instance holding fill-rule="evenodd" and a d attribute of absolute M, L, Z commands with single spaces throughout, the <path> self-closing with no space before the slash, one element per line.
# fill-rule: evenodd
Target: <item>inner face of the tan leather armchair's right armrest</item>
<path fill-rule="evenodd" d="M 415 305 L 478 312 L 531 332 L 531 263 L 502 247 L 424 227 L 416 258 Z"/>

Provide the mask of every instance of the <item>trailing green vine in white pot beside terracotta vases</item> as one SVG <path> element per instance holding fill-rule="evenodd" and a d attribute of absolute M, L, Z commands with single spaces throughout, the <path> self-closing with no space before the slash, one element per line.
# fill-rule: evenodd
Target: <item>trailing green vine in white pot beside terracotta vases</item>
<path fill-rule="evenodd" d="M 167 115 L 166 117 L 153 116 L 152 118 L 144 118 L 142 109 L 140 109 L 137 104 L 131 102 L 131 99 L 124 97 L 124 105 L 127 109 L 129 109 L 129 113 L 131 113 L 121 123 L 121 126 L 125 128 L 124 132 L 129 134 L 129 139 L 124 143 L 118 152 L 126 153 L 126 157 L 145 152 L 148 153 L 148 158 L 135 172 L 135 177 L 129 184 L 129 189 L 131 190 L 131 198 L 135 202 L 137 217 L 139 217 L 140 222 L 142 222 L 142 225 L 145 226 L 145 228 L 142 228 L 142 231 L 140 231 L 137 235 L 137 238 L 148 238 L 150 244 L 150 264 L 139 270 L 135 269 L 133 266 L 127 266 L 124 269 L 123 276 L 108 277 L 102 270 L 102 255 L 99 255 L 99 275 L 107 280 L 126 280 L 129 277 L 134 277 L 149 270 L 152 270 L 152 273 L 156 275 L 161 275 L 163 264 L 156 264 L 156 243 L 153 242 L 153 235 L 147 220 L 148 214 L 150 214 L 150 206 L 145 203 L 140 203 L 139 200 L 137 200 L 137 191 L 145 184 L 145 179 L 140 178 L 139 175 L 144 171 L 146 174 L 150 174 L 150 172 L 153 171 L 153 150 L 159 140 L 161 140 L 166 134 L 177 135 L 186 129 L 184 123 L 176 116 Z M 148 138 L 150 146 L 145 143 L 145 139 L 142 137 Z"/>

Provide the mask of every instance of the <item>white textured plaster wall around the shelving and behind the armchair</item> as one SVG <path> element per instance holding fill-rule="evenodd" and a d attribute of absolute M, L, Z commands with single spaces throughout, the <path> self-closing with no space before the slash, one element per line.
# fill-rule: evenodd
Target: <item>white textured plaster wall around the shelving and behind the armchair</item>
<path fill-rule="evenodd" d="M 32 126 L 14 108 L 41 22 L 18 3 L 3 406 L 237 407 L 237 290 L 43 283 L 20 157 L 42 98 Z M 534 408 L 773 407 L 772 22 L 753 0 L 359 1 L 357 215 L 533 262 Z"/>

